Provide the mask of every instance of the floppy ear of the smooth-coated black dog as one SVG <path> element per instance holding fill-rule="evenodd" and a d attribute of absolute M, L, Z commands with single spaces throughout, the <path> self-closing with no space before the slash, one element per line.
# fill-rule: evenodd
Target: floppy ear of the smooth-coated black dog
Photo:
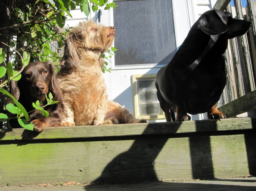
<path fill-rule="evenodd" d="M 214 10 L 202 14 L 198 20 L 197 28 L 209 35 L 223 34 L 228 30 L 228 26 Z"/>

